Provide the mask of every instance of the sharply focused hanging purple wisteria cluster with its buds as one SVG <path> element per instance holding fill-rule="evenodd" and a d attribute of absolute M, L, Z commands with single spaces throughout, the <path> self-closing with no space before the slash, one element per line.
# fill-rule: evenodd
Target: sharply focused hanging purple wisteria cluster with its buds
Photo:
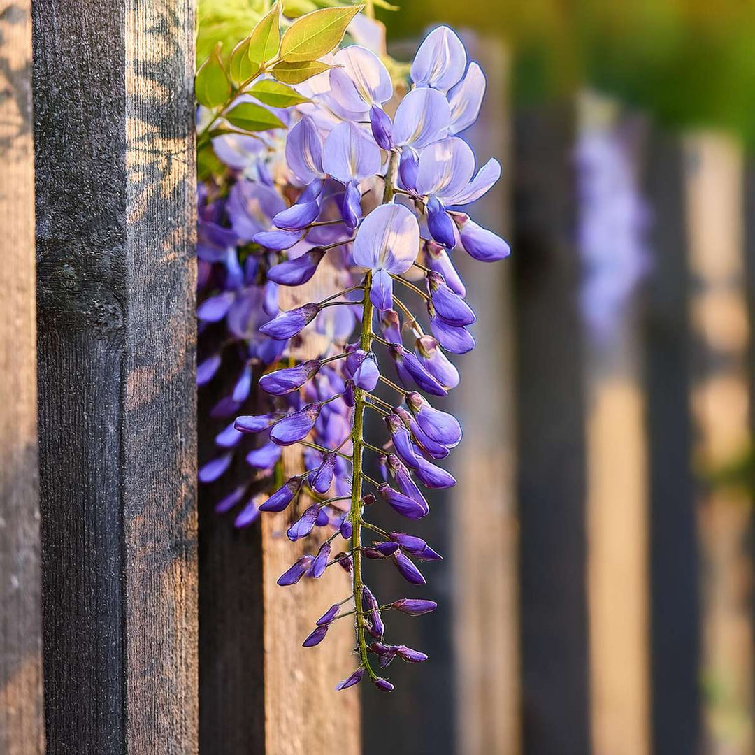
<path fill-rule="evenodd" d="M 344 569 L 350 594 L 315 621 L 304 646 L 318 645 L 335 621 L 351 617 L 359 663 L 337 689 L 367 676 L 390 692 L 393 685 L 376 667 L 382 670 L 397 657 L 415 663 L 427 656 L 390 643 L 384 614 L 422 615 L 436 604 L 414 597 L 381 603 L 365 584 L 362 566 L 365 559 L 391 562 L 408 584 L 418 586 L 425 584 L 418 562 L 441 556 L 419 535 L 374 525 L 367 511 L 387 505 L 418 522 L 430 510 L 423 488 L 455 485 L 437 462 L 461 442 L 461 427 L 426 397 L 446 396 L 459 383 L 446 353 L 475 346 L 469 330 L 475 315 L 451 252 L 492 262 L 507 257 L 509 247 L 460 209 L 487 192 L 501 173 L 495 159 L 476 171 L 473 150 L 458 136 L 478 116 L 485 93 L 482 70 L 468 62 L 455 32 L 440 26 L 418 49 L 411 83 L 394 81 L 384 50 L 370 42 L 368 20 L 355 17 L 358 10 L 314 11 L 291 23 L 279 40 L 274 6 L 260 22 L 274 26 L 275 36 L 262 54 L 251 55 L 256 70 L 245 69 L 234 83 L 234 51 L 228 90 L 217 101 L 205 97 L 200 145 L 211 143 L 231 171 L 224 184 L 208 182 L 201 193 L 199 320 L 214 335 L 198 368 L 199 382 L 212 379 L 229 344 L 243 353 L 232 392 L 213 410 L 238 416 L 217 436 L 220 455 L 202 467 L 200 478 L 217 479 L 245 437 L 260 439 L 246 461 L 257 476 L 277 478 L 277 486 L 242 505 L 236 525 L 248 525 L 260 511 L 287 510 L 295 512 L 287 529 L 291 541 L 316 529 L 330 531 L 278 584 Z M 341 15 L 331 14 L 328 21 L 323 14 L 330 11 Z M 325 22 L 328 28 L 340 24 L 336 41 L 328 38 L 328 50 L 291 46 L 290 39 L 287 45 L 297 25 L 322 29 Z M 347 24 L 350 41 L 362 44 L 332 54 Z M 257 49 L 255 39 L 253 32 L 242 48 Z M 316 58 L 304 60 L 307 55 Z M 216 60 L 222 69 L 220 57 Z M 304 69 L 304 63 L 314 75 L 291 78 L 289 71 Z M 286 91 L 276 71 L 289 77 Z M 279 95 L 275 103 L 267 97 L 273 91 Z M 406 94 L 396 105 L 399 91 Z M 251 134 L 238 117 L 234 125 L 231 116 L 243 106 L 254 107 L 254 118 L 263 124 L 268 116 L 256 109 L 264 105 L 278 121 L 273 128 Z M 246 107 L 247 126 L 250 112 Z M 279 286 L 304 285 L 324 265 L 335 271 L 341 289 L 279 311 Z M 218 323 L 225 325 L 222 343 L 213 329 Z M 295 360 L 291 345 L 305 330 L 317 331 L 322 353 Z M 262 413 L 243 414 L 254 365 L 263 370 L 258 386 L 267 399 L 258 400 L 267 406 Z M 367 411 L 380 418 L 383 439 L 366 437 Z M 304 449 L 304 472 L 280 479 L 282 449 L 294 444 Z M 365 471 L 365 454 L 374 455 L 382 479 Z M 236 488 L 217 509 L 242 504 L 248 489 Z"/>

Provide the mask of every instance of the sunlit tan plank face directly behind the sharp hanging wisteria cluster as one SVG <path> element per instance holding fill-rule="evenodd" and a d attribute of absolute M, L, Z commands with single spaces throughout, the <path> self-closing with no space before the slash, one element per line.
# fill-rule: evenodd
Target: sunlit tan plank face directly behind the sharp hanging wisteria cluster
<path fill-rule="evenodd" d="M 307 285 L 281 288 L 280 307 L 290 310 L 318 301 L 337 291 L 334 271 L 321 265 Z M 322 353 L 316 334 L 304 339 L 297 358 L 312 359 Z M 302 470 L 300 449 L 285 448 L 284 478 Z M 353 624 L 337 621 L 323 643 L 303 648 L 315 619 L 334 602 L 351 592 L 350 578 L 339 566 L 331 566 L 319 580 L 306 579 L 291 587 L 276 580 L 302 554 L 316 553 L 317 535 L 297 544 L 285 536 L 288 524 L 307 507 L 300 496 L 296 510 L 263 514 L 262 570 L 264 602 L 265 752 L 270 755 L 325 753 L 331 748 L 343 755 L 360 752 L 359 687 L 343 692 L 336 683 L 356 668 Z M 291 509 L 293 507 L 289 507 Z M 298 514 L 297 514 L 298 512 Z M 334 541 L 338 553 L 341 541 Z M 366 686 L 366 685 L 365 685 Z M 367 689 L 365 694 L 373 692 Z"/>

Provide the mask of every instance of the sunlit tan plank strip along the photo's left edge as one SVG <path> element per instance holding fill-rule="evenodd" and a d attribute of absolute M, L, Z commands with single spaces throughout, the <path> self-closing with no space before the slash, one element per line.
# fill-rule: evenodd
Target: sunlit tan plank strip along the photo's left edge
<path fill-rule="evenodd" d="M 0 0 L 0 752 L 44 750 L 37 474 L 32 24 Z"/>

